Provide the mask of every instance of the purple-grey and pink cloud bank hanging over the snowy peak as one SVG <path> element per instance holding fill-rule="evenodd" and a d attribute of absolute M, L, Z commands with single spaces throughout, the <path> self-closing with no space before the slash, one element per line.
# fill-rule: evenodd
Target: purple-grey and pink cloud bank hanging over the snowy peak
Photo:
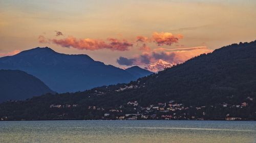
<path fill-rule="evenodd" d="M 142 54 L 136 55 L 130 59 L 125 58 L 125 60 L 132 61 L 129 64 L 129 66 L 131 66 L 131 65 L 148 65 L 151 63 L 155 63 L 158 60 L 164 60 L 168 63 L 178 64 L 178 63 L 183 63 L 183 62 L 185 62 L 195 56 L 198 56 L 200 54 L 209 53 L 209 52 L 212 52 L 212 50 L 208 49 L 205 46 L 189 47 L 189 48 L 176 48 L 176 49 L 157 48 L 157 50 L 154 50 L 150 53 L 142 53 Z M 124 58 L 124 57 L 122 57 L 122 58 Z M 120 64 L 120 65 L 124 65 L 124 64 Z"/>

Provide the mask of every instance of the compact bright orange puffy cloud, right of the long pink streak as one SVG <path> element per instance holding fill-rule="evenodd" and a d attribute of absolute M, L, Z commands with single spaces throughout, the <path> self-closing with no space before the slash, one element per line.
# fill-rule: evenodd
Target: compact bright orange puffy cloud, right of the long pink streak
<path fill-rule="evenodd" d="M 152 35 L 152 39 L 158 46 L 162 45 L 172 45 L 173 43 L 178 43 L 179 39 L 182 39 L 182 35 L 174 36 L 172 33 L 157 33 L 154 32 Z"/>

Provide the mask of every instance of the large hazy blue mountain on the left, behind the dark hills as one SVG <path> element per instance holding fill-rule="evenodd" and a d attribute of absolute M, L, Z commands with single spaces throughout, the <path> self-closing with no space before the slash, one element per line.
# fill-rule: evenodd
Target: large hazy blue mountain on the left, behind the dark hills
<path fill-rule="evenodd" d="M 94 61 L 86 54 L 62 54 L 48 47 L 37 47 L 0 58 L 0 69 L 25 71 L 58 93 L 84 91 L 102 85 L 130 82 L 140 77 Z M 144 71 L 141 75 L 145 75 Z"/>

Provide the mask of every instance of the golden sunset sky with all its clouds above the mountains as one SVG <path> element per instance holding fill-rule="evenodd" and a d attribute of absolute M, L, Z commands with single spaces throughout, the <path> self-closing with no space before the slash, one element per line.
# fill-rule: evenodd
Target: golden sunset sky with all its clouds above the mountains
<path fill-rule="evenodd" d="M 0 56 L 50 47 L 120 68 L 256 40 L 256 1 L 3 1 Z"/>

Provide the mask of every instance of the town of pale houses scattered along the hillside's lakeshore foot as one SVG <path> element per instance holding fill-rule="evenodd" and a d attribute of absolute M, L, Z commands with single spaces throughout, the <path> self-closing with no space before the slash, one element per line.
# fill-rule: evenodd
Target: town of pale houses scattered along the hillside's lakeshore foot
<path fill-rule="evenodd" d="M 247 97 L 248 101 L 253 101 L 253 98 Z M 247 102 L 242 102 L 239 105 L 230 105 L 227 103 L 219 104 L 218 107 L 210 106 L 210 108 L 230 108 L 241 109 L 248 105 Z M 52 109 L 64 109 L 64 108 L 76 108 L 78 104 L 51 104 L 49 106 Z M 117 108 L 103 108 L 98 106 L 88 106 L 88 110 L 91 112 L 97 112 L 98 120 L 205 120 L 204 116 L 208 114 L 206 106 L 185 106 L 182 103 L 178 103 L 174 100 L 170 100 L 167 103 L 151 104 L 146 107 L 139 105 L 138 101 L 130 101 L 124 105 L 120 105 Z M 194 110 L 196 115 L 190 115 L 188 110 Z M 256 112 L 255 112 L 256 113 Z M 68 113 L 62 113 L 59 119 L 65 118 Z M 2 118 L 2 121 L 8 120 L 8 117 Z M 57 120 L 57 119 L 55 119 Z M 86 120 L 91 120 L 90 116 Z M 227 113 L 225 119 L 227 121 L 234 120 L 246 120 L 241 117 L 232 117 Z"/>

